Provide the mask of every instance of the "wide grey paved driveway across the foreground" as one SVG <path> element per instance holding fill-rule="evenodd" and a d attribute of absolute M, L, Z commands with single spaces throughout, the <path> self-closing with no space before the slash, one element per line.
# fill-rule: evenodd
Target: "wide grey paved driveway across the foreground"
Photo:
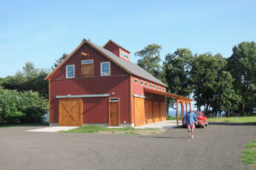
<path fill-rule="evenodd" d="M 0 128 L 0 169 L 247 169 L 239 158 L 256 139 L 256 125 L 214 124 L 165 134 L 33 133 L 37 127 Z M 41 128 L 41 127 L 38 127 Z"/>

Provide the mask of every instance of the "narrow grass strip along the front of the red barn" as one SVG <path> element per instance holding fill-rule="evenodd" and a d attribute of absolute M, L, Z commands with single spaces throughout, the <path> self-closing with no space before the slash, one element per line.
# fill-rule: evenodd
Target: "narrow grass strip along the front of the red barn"
<path fill-rule="evenodd" d="M 166 129 L 153 129 L 153 128 L 145 128 L 145 129 L 137 129 L 134 127 L 100 127 L 100 126 L 84 126 L 74 128 L 68 131 L 62 131 L 62 133 L 116 133 L 116 134 L 142 134 L 142 135 L 150 135 L 150 134 L 160 134 L 165 133 Z"/>

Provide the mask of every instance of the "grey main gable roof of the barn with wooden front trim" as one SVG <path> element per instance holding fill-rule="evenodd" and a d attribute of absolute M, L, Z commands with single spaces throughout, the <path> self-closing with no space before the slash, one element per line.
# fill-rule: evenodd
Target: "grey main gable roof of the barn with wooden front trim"
<path fill-rule="evenodd" d="M 137 77 L 142 77 L 144 79 L 147 79 L 148 81 L 152 81 L 152 82 L 156 82 L 162 86 L 166 86 L 166 84 L 164 82 L 161 82 L 159 79 L 155 78 L 154 76 L 152 76 L 150 73 L 148 73 L 148 71 L 145 71 L 142 67 L 140 67 L 139 65 L 132 63 L 132 62 L 127 62 L 123 59 L 119 59 L 118 56 L 116 56 L 115 54 L 113 54 L 112 52 L 108 51 L 108 49 L 102 48 L 101 46 L 96 45 L 93 42 L 89 42 L 87 40 L 85 40 L 84 42 L 82 42 L 78 48 L 76 48 L 75 50 L 73 50 L 73 52 L 71 54 L 69 54 L 67 56 L 67 58 L 62 61 L 61 65 L 64 65 L 64 63 L 66 63 L 67 59 L 70 59 L 72 57 L 72 55 L 77 52 L 79 50 L 80 47 L 82 47 L 84 45 L 84 43 L 89 44 L 92 48 L 95 48 L 98 52 L 100 52 L 101 54 L 103 54 L 104 56 L 106 56 L 108 59 L 112 60 L 113 63 L 119 65 L 122 69 L 124 69 L 125 71 L 129 72 L 132 75 L 135 75 Z M 48 80 L 49 77 L 51 77 L 51 75 L 53 75 L 53 73 L 58 70 L 61 65 L 58 65 L 54 71 L 52 71 L 48 77 L 46 77 L 45 79 Z"/>

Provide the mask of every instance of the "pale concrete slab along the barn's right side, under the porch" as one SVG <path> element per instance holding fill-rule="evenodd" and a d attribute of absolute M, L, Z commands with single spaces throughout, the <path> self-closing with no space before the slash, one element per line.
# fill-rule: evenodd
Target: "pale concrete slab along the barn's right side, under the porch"
<path fill-rule="evenodd" d="M 182 122 L 179 121 L 178 125 L 182 125 Z M 164 122 L 154 122 L 154 123 L 150 123 L 150 124 L 146 124 L 144 126 L 140 126 L 140 127 L 135 127 L 135 128 L 163 128 L 163 129 L 170 129 L 170 128 L 175 128 L 177 127 L 177 122 L 175 120 L 171 120 L 171 121 L 164 121 Z"/>

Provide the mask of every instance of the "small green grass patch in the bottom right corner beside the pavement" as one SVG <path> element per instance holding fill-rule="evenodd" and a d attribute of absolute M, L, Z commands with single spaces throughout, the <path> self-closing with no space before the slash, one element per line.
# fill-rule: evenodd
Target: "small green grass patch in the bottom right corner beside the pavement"
<path fill-rule="evenodd" d="M 256 140 L 245 145 L 245 148 L 247 148 L 247 150 L 241 151 L 242 153 L 242 155 L 240 156 L 241 161 L 247 164 L 255 164 L 256 163 Z"/>

